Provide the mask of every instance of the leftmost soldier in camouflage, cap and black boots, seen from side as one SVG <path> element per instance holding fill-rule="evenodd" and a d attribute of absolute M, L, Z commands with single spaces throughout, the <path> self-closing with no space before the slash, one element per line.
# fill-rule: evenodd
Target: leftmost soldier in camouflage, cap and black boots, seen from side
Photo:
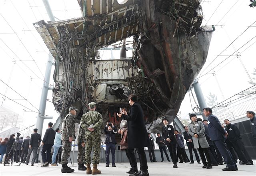
<path fill-rule="evenodd" d="M 61 172 L 62 173 L 70 173 L 74 172 L 75 170 L 68 167 L 68 157 L 70 156 L 71 151 L 71 144 L 72 141 L 75 139 L 75 116 L 76 111 L 79 111 L 76 109 L 76 107 L 70 107 L 69 108 L 69 114 L 66 115 L 63 123 L 62 123 L 62 157 L 61 157 Z"/>

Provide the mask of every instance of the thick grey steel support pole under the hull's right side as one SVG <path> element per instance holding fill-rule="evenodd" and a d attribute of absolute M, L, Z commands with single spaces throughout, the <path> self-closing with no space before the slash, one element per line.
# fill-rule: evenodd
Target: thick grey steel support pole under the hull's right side
<path fill-rule="evenodd" d="M 194 91 L 196 93 L 196 99 L 198 101 L 200 110 L 203 112 L 203 109 L 208 107 L 208 106 L 207 106 L 207 104 L 205 102 L 204 94 L 202 93 L 201 85 L 198 82 L 198 78 L 194 81 L 192 86 L 194 87 Z M 202 116 L 203 116 L 203 119 L 207 120 L 207 117 L 205 117 L 204 115 L 202 115 Z"/>

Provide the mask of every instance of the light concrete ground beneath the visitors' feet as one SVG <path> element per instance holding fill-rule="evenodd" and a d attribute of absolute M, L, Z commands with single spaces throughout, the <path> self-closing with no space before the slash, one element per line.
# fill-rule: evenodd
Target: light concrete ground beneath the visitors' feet
<path fill-rule="evenodd" d="M 16 163 L 14 163 L 16 164 Z M 138 166 L 140 164 L 138 163 Z M 70 166 L 70 164 L 69 164 Z M 202 164 L 189 164 L 178 163 L 178 168 L 172 168 L 171 162 L 154 162 L 148 163 L 148 172 L 150 176 L 256 176 L 256 160 L 254 165 L 246 166 L 238 164 L 238 171 L 222 171 L 225 167 L 215 166 L 212 169 L 203 169 Z M 78 166 L 75 164 L 71 168 L 75 169 L 75 172 L 70 174 L 61 173 L 61 165 L 49 166 L 48 168 L 40 167 L 40 164 L 34 164 L 34 166 L 21 164 L 20 166 L 4 166 L 0 164 L 0 176 L 62 176 L 62 175 L 77 175 L 84 176 L 86 171 L 78 171 Z M 130 164 L 127 162 L 116 163 L 116 168 L 105 167 L 104 163 L 100 163 L 98 168 L 101 170 L 104 176 L 126 176 L 126 172 L 130 170 Z"/>

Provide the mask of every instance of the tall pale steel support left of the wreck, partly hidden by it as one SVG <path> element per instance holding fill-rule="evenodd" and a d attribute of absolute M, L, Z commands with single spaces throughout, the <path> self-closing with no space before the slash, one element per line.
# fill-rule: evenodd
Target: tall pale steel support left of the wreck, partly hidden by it
<path fill-rule="evenodd" d="M 52 10 L 50 7 L 50 4 L 48 0 L 43 0 L 45 9 L 47 11 L 47 14 L 52 22 L 54 22 L 54 16 L 52 14 Z M 40 105 L 39 105 L 39 113 L 36 119 L 36 128 L 38 129 L 38 133 L 42 134 L 43 125 L 44 125 L 44 113 L 45 113 L 45 107 L 46 107 L 46 99 L 48 95 L 49 90 L 49 81 L 50 81 L 50 74 L 52 70 L 52 54 L 49 52 L 48 62 L 46 65 L 45 75 L 44 75 L 44 84 L 42 88 L 42 94 L 40 99 Z"/>

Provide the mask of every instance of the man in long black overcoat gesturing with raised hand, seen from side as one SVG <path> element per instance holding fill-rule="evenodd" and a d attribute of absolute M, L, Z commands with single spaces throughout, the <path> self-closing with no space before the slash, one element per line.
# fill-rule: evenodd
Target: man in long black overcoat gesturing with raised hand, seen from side
<path fill-rule="evenodd" d="M 122 119 L 128 121 L 128 147 L 136 148 L 140 158 L 140 171 L 134 173 L 134 175 L 149 176 L 144 147 L 150 146 L 150 143 L 144 122 L 144 113 L 135 94 L 131 94 L 128 99 L 131 105 L 129 115 L 119 113 L 117 113 L 117 115 L 118 117 L 122 117 Z"/>

